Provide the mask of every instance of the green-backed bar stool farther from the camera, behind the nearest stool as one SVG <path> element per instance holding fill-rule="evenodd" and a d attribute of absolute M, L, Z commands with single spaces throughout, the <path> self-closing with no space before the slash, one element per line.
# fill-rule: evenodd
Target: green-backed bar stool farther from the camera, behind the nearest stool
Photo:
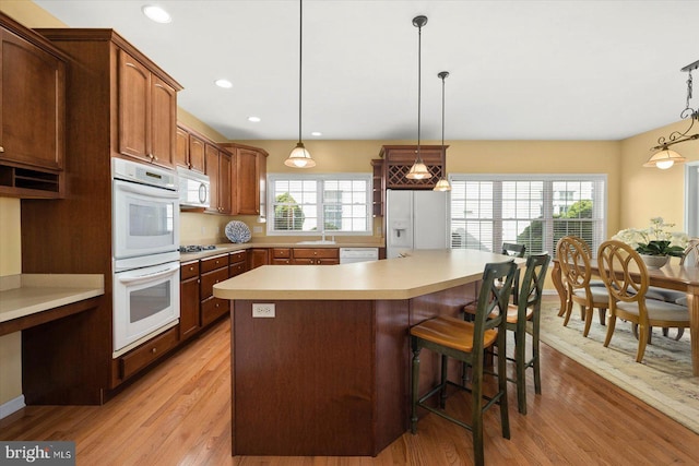
<path fill-rule="evenodd" d="M 542 393 L 541 363 L 538 357 L 540 322 L 542 295 L 546 270 L 550 262 L 547 252 L 530 255 L 526 259 L 526 268 L 520 287 L 518 304 L 509 304 L 507 310 L 507 330 L 514 334 L 514 353 L 506 359 L 514 362 L 514 379 L 508 379 L 517 385 L 518 410 L 526 415 L 526 369 L 532 368 L 534 373 L 534 393 Z M 531 359 L 526 354 L 526 324 L 531 322 Z M 498 357 L 500 348 L 498 347 Z"/>

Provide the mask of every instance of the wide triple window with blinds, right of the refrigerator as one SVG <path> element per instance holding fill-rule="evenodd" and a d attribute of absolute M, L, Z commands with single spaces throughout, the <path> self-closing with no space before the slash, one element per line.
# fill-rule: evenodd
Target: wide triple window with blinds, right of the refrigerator
<path fill-rule="evenodd" d="M 604 175 L 452 175 L 451 247 L 548 251 L 566 235 L 596 250 L 606 235 Z"/>

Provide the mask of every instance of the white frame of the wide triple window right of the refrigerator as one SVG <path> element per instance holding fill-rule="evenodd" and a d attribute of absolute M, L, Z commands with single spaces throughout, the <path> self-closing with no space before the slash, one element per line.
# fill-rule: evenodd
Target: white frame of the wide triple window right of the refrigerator
<path fill-rule="evenodd" d="M 542 210 L 544 218 L 536 218 L 543 222 L 543 240 L 542 240 L 542 249 L 543 251 L 548 251 L 552 256 L 556 254 L 556 244 L 553 243 L 555 238 L 554 235 L 554 207 L 556 200 L 554 199 L 554 182 L 593 182 L 601 187 L 601 192 L 595 191 L 594 200 L 593 200 L 593 241 L 590 244 L 593 250 L 596 251 L 599 246 L 605 240 L 607 236 L 607 223 L 608 223 L 608 177 L 606 174 L 451 174 L 449 175 L 449 182 L 452 186 L 452 198 L 450 199 L 450 218 L 449 218 L 449 229 L 450 236 L 452 238 L 452 242 L 450 246 L 453 248 L 453 223 L 457 222 L 465 222 L 465 215 L 460 218 L 454 217 L 454 212 L 458 211 L 453 205 L 453 187 L 459 182 L 484 182 L 484 181 L 493 181 L 493 182 L 506 182 L 506 181 L 529 181 L 529 182 L 537 182 L 541 181 L 544 183 L 544 188 L 542 190 Z M 498 190 L 495 190 L 498 191 Z M 499 194 L 501 194 L 501 190 L 499 190 Z M 502 198 L 494 192 L 493 195 L 493 232 L 491 232 L 491 241 L 493 248 L 496 249 L 499 247 L 498 243 L 502 243 L 505 240 L 502 239 L 502 234 L 500 228 L 500 232 L 497 232 L 497 226 L 502 226 L 503 222 L 508 220 L 502 218 Z M 495 205 L 496 203 L 499 204 Z M 510 241 L 509 239 L 507 240 Z M 465 247 L 465 243 L 464 243 Z M 494 251 L 494 252 L 500 252 Z M 528 251 L 529 254 L 530 251 Z"/>

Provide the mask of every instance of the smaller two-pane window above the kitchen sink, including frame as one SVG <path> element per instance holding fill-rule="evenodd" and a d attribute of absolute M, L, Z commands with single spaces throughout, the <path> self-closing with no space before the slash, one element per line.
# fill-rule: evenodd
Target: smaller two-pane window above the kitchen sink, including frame
<path fill-rule="evenodd" d="M 371 176 L 269 176 L 268 235 L 371 235 Z"/>

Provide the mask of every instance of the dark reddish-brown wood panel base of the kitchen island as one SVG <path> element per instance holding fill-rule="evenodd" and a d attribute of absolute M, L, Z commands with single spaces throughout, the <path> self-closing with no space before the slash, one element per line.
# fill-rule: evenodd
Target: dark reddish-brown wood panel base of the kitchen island
<path fill-rule="evenodd" d="M 458 315 L 471 285 L 411 300 L 232 304 L 232 454 L 376 456 L 408 428 L 411 324 Z M 427 357 L 420 381 L 437 380 Z M 433 361 L 434 359 L 434 361 Z"/>

